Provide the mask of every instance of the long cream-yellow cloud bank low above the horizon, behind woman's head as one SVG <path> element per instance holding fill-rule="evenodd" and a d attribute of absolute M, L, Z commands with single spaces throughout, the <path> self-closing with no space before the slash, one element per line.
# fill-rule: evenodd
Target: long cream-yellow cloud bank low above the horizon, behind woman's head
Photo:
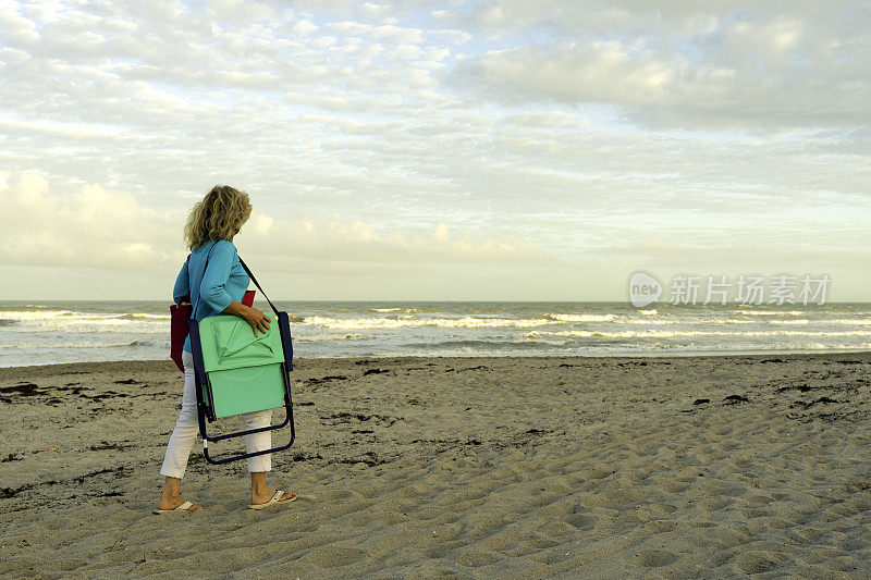
<path fill-rule="evenodd" d="M 0 172 L 0 206 L 8 227 L 0 240 L 0 264 L 78 266 L 106 269 L 162 269 L 184 252 L 186 214 L 158 212 L 127 193 L 84 185 L 72 196 L 53 195 L 38 173 Z M 279 219 L 255 211 L 237 239 L 275 268 L 298 261 L 543 263 L 553 258 L 529 240 L 451 239 L 446 225 L 432 235 L 402 230 L 378 232 L 361 220 L 336 215 Z"/>

